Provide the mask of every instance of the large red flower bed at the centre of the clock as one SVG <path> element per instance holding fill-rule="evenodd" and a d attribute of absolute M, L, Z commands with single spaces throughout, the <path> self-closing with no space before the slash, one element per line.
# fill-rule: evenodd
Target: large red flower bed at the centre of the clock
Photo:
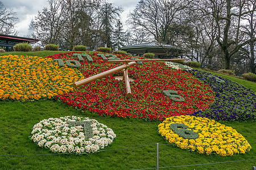
<path fill-rule="evenodd" d="M 73 52 L 48 56 L 63 61 L 75 59 Z M 79 70 L 85 78 L 113 69 L 123 63 L 103 61 L 97 53 L 88 54 L 93 63 L 80 62 Z M 121 59 L 131 56 L 117 55 Z M 122 75 L 122 71 L 108 75 L 89 84 L 77 88 L 69 94 L 57 95 L 56 99 L 68 105 L 95 112 L 98 115 L 115 117 L 144 118 L 147 120 L 163 121 L 166 117 L 179 116 L 208 108 L 214 101 L 214 92 L 207 84 L 195 79 L 183 70 L 175 70 L 160 62 L 143 62 L 143 66 L 134 65 L 128 69 L 133 96 L 126 98 L 125 82 L 114 79 L 115 75 Z M 74 82 L 75 83 L 75 82 Z M 177 91 L 177 95 L 184 97 L 183 102 L 173 102 L 163 95 L 164 90 Z"/>

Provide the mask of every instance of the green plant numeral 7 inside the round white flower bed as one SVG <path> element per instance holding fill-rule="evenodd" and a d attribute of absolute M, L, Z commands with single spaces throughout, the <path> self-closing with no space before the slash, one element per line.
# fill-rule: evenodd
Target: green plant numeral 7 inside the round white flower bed
<path fill-rule="evenodd" d="M 93 137 L 92 122 L 90 121 L 69 121 L 68 127 L 82 126 L 84 128 L 85 138 L 89 139 Z"/>

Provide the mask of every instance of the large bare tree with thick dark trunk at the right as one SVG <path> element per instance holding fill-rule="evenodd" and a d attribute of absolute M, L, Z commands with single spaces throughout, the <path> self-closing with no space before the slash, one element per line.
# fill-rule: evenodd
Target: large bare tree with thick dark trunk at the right
<path fill-rule="evenodd" d="M 216 22 L 216 40 L 222 50 L 225 69 L 230 69 L 230 58 L 234 53 L 246 44 L 256 41 L 255 37 L 245 39 L 240 29 L 242 17 L 252 11 L 244 8 L 247 2 L 246 0 L 209 0 L 209 7 L 203 9 L 212 15 L 214 22 Z M 207 11 L 209 9 L 210 11 Z"/>

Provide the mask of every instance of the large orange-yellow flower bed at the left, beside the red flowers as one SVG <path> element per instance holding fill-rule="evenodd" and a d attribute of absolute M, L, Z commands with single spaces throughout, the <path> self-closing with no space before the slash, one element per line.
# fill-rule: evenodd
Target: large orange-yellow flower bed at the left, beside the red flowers
<path fill-rule="evenodd" d="M 72 83 L 81 79 L 79 70 L 59 67 L 52 58 L 0 56 L 0 99 L 51 99 L 73 91 Z"/>

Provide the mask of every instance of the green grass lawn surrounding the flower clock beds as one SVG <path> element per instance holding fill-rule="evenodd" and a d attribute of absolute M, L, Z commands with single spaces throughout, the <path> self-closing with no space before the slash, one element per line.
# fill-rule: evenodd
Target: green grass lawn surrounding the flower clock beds
<path fill-rule="evenodd" d="M 46 57 L 63 53 L 45 51 L 42 54 L 10 53 L 12 55 L 27 55 Z M 225 78 L 230 76 L 220 75 Z M 232 79 L 256 92 L 253 82 Z M 82 116 L 94 118 L 113 129 L 117 137 L 105 151 L 84 155 L 52 154 L 46 148 L 40 148 L 30 136 L 32 127 L 49 117 Z M 159 122 L 149 122 L 135 119 L 100 117 L 90 112 L 81 112 L 67 104 L 56 100 L 38 101 L 0 101 L 0 169 L 140 169 L 156 167 L 156 143 L 159 146 L 159 167 L 172 167 L 191 164 L 190 167 L 175 167 L 166 169 L 251 169 L 256 165 L 256 124 L 255 122 L 220 122 L 232 126 L 250 143 L 252 149 L 244 155 L 220 156 L 205 155 L 197 152 L 181 150 L 168 145 L 158 134 Z M 152 144 L 152 145 L 150 145 Z M 147 145 L 147 146 L 144 146 Z M 143 147 L 138 147 L 143 146 Z M 132 147 L 132 148 L 130 148 Z M 127 148 L 127 149 L 122 149 Z M 109 151 L 108 151 L 109 150 Z M 52 154 L 52 155 L 49 155 Z M 13 156 L 3 156 L 13 155 Z M 14 156 L 17 155 L 17 156 Z M 232 162 L 247 160 L 243 162 Z M 211 164 L 218 162 L 232 162 Z"/>

